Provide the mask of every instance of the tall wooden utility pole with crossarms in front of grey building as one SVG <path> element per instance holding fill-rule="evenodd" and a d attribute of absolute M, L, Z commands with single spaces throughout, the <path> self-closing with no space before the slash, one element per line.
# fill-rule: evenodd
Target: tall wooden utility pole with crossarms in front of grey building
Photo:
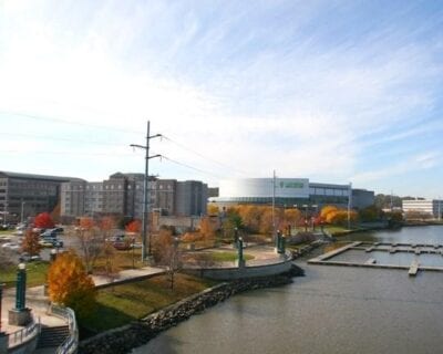
<path fill-rule="evenodd" d="M 146 238 L 148 233 L 148 214 L 150 214 L 150 201 L 148 198 L 151 197 L 148 191 L 150 191 L 150 184 L 148 184 L 148 171 L 150 171 L 150 159 L 154 157 L 161 157 L 161 155 L 154 155 L 150 156 L 150 139 L 154 137 L 161 137 L 162 134 L 155 134 L 155 135 L 150 135 L 150 121 L 147 121 L 147 128 L 146 128 L 146 145 L 136 145 L 136 144 L 131 144 L 132 147 L 138 147 L 145 149 L 145 176 L 143 179 L 143 215 L 142 215 L 142 262 L 146 261 L 146 256 L 152 256 L 152 242 L 151 242 L 151 236 L 150 236 L 150 242 L 146 244 Z M 146 254 L 146 249 L 147 249 L 147 254 Z"/>

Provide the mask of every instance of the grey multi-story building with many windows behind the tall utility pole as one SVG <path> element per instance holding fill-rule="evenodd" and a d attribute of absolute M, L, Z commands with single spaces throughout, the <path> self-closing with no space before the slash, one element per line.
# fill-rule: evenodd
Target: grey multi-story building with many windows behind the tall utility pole
<path fill-rule="evenodd" d="M 207 186 L 202 181 L 148 179 L 148 205 L 161 215 L 206 214 Z M 144 175 L 111 175 L 103 183 L 75 181 L 62 186 L 61 215 L 68 217 L 120 215 L 141 218 L 144 201 Z"/>

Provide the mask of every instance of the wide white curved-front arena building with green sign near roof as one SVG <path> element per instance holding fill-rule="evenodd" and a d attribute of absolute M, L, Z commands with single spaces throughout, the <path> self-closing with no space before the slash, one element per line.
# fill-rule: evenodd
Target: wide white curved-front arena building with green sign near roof
<path fill-rule="evenodd" d="M 373 205 L 374 192 L 352 189 L 351 185 L 310 183 L 308 178 L 245 178 L 220 181 L 219 197 L 209 198 L 220 207 L 238 204 L 321 208 L 324 205 L 361 209 Z"/>

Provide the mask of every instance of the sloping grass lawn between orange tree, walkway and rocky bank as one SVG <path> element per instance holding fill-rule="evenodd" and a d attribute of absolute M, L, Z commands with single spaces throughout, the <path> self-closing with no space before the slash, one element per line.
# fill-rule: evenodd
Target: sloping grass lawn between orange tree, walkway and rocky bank
<path fill-rule="evenodd" d="M 214 281 L 177 273 L 172 291 L 169 279 L 167 275 L 158 275 L 100 290 L 96 311 L 81 324 L 94 332 L 114 329 L 216 284 Z"/>

